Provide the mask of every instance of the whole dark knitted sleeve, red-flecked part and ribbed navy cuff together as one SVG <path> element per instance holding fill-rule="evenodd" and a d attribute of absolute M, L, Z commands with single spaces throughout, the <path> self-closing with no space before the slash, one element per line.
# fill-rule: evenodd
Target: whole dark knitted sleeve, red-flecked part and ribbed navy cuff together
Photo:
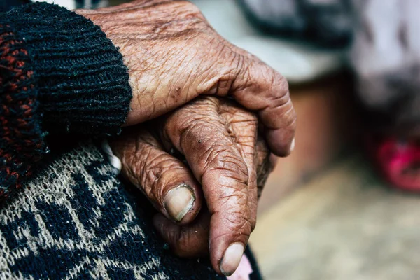
<path fill-rule="evenodd" d="M 128 79 L 118 49 L 83 16 L 47 3 L 0 13 L 0 200 L 48 151 L 45 134 L 118 134 Z"/>

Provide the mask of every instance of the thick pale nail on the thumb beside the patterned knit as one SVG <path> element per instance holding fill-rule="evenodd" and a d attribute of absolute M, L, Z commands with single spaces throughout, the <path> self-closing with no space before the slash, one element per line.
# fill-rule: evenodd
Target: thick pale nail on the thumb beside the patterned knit
<path fill-rule="evenodd" d="M 179 222 L 193 208 L 195 197 L 193 190 L 186 184 L 169 190 L 165 197 L 165 209 L 175 221 Z"/>

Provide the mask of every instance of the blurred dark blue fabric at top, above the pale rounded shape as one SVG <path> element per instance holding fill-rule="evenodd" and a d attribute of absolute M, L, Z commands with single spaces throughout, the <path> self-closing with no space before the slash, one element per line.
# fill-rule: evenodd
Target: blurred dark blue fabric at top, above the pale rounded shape
<path fill-rule="evenodd" d="M 353 36 L 349 0 L 237 1 L 248 20 L 267 34 L 300 39 L 323 48 L 344 48 Z"/>

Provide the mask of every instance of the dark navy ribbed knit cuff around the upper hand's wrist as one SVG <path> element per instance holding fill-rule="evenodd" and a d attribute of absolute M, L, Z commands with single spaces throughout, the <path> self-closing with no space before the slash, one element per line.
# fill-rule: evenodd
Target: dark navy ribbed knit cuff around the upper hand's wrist
<path fill-rule="evenodd" d="M 117 134 L 130 109 L 127 67 L 92 21 L 65 8 L 33 3 L 10 11 L 38 83 L 43 129 Z"/>

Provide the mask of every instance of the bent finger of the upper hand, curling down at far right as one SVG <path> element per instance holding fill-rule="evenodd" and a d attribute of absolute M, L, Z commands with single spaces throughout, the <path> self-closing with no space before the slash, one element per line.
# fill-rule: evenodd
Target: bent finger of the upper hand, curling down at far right
<path fill-rule="evenodd" d="M 262 62 L 248 60 L 232 85 L 232 95 L 247 109 L 258 111 L 271 151 L 279 156 L 293 150 L 296 114 L 288 83 Z"/>

